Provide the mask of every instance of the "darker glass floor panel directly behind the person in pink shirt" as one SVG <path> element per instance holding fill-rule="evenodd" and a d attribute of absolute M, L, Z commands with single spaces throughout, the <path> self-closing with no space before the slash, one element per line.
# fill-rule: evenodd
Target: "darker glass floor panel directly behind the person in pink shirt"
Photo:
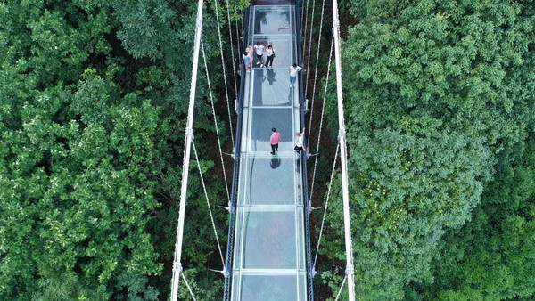
<path fill-rule="evenodd" d="M 271 128 L 281 134 L 279 142 L 279 152 L 293 150 L 293 109 L 252 109 L 251 113 L 251 151 L 271 152 L 269 137 Z"/>

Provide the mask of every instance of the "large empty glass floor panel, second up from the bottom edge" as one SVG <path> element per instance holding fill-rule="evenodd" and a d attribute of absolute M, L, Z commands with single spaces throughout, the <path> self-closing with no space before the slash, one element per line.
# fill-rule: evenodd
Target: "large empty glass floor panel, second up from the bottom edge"
<path fill-rule="evenodd" d="M 243 268 L 297 269 L 295 212 L 244 211 L 243 215 Z"/>

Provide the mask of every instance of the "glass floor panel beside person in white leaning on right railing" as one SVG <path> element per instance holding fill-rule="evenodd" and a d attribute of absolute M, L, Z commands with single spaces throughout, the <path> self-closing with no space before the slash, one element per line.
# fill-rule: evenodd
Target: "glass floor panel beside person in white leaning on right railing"
<path fill-rule="evenodd" d="M 252 77 L 253 106 L 292 106 L 294 94 L 288 69 L 255 69 Z"/>

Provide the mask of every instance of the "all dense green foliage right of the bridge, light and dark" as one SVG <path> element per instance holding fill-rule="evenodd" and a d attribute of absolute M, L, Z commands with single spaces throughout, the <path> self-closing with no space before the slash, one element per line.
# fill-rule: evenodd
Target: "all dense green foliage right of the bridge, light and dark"
<path fill-rule="evenodd" d="M 535 296 L 533 3 L 346 7 L 358 299 Z"/>

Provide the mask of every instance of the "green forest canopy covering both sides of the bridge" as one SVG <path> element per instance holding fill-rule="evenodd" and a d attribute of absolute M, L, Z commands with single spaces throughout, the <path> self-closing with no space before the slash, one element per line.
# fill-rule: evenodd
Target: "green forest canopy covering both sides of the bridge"
<path fill-rule="evenodd" d="M 213 5 L 203 43 L 231 152 Z M 533 1 L 341 7 L 357 298 L 535 297 Z M 195 16 L 185 0 L 0 4 L 0 299 L 168 298 Z M 195 142 L 207 194 L 226 206 L 199 81 Z M 212 300 L 224 280 L 208 269 L 222 266 L 196 166 L 190 175 L 183 264 Z M 214 212 L 225 244 L 227 212 Z M 316 278 L 333 292 L 342 223 L 333 202 Z"/>

